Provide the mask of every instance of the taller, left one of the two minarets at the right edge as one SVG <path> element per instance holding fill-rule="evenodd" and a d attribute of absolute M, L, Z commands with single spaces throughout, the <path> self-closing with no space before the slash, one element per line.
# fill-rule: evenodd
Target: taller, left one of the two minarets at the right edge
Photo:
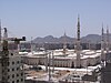
<path fill-rule="evenodd" d="M 104 32 L 102 24 L 102 34 L 101 34 L 101 61 L 104 61 Z"/>

